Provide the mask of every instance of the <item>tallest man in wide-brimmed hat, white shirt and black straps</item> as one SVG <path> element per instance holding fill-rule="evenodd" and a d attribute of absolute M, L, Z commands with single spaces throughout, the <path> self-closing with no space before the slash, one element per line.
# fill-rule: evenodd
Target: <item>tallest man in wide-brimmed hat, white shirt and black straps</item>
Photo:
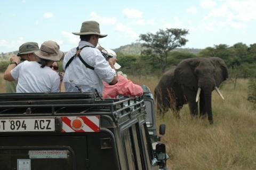
<path fill-rule="evenodd" d="M 117 83 L 117 74 L 114 67 L 115 58 L 108 61 L 98 48 L 99 38 L 107 35 L 100 34 L 99 23 L 85 21 L 79 33 L 81 41 L 78 47 L 72 48 L 64 57 L 63 69 L 65 75 L 63 82 L 66 92 L 103 92 L 102 80 L 110 85 Z"/>

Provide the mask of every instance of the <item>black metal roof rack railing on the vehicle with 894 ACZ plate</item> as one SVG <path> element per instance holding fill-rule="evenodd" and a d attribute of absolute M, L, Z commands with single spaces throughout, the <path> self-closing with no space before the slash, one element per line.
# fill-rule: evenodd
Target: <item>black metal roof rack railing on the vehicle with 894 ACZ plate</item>
<path fill-rule="evenodd" d="M 142 96 L 106 100 L 95 96 L 94 92 L 0 94 L 0 117 L 108 115 L 117 122 L 145 106 Z"/>

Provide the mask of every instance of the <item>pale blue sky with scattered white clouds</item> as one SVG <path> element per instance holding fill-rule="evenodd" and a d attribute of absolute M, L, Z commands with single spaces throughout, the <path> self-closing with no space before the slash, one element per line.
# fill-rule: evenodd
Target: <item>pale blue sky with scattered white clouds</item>
<path fill-rule="evenodd" d="M 255 0 L 180 1 L 0 1 L 0 52 L 18 50 L 25 42 L 58 42 L 62 51 L 77 46 L 71 34 L 86 20 L 100 23 L 101 46 L 135 43 L 140 34 L 159 29 L 189 30 L 185 47 L 256 43 Z"/>

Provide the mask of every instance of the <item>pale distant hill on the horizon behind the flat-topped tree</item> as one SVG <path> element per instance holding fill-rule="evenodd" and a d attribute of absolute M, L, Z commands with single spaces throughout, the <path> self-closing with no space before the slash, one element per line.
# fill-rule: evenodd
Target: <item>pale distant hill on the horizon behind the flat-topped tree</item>
<path fill-rule="evenodd" d="M 121 46 L 119 48 L 115 48 L 114 51 L 115 52 L 121 52 L 123 54 L 140 54 L 143 49 L 145 49 L 145 48 L 142 47 L 140 43 L 132 43 L 132 44 L 129 44 L 129 45 Z M 202 49 L 198 49 L 198 48 L 175 48 L 173 51 L 182 51 L 182 52 L 189 52 L 189 53 L 197 54 L 200 51 L 202 51 Z"/>

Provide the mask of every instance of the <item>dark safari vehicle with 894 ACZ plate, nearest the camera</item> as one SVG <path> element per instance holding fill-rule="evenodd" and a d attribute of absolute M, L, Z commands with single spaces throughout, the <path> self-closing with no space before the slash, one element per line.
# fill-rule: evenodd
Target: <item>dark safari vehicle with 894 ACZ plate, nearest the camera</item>
<path fill-rule="evenodd" d="M 145 108 L 143 97 L 0 94 L 0 167 L 166 169 L 165 145 L 153 151 Z"/>

